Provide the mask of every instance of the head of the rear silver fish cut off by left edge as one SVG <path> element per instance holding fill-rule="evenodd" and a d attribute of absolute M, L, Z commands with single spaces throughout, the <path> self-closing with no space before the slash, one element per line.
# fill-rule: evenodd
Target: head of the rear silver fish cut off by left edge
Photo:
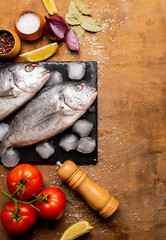
<path fill-rule="evenodd" d="M 15 64 L 10 71 L 14 84 L 27 93 L 39 90 L 50 77 L 50 71 L 37 64 Z"/>

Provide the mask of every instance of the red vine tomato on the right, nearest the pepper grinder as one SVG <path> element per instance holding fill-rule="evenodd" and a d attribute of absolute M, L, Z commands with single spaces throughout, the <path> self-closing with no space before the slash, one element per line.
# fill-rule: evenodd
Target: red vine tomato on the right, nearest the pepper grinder
<path fill-rule="evenodd" d="M 57 220 L 62 217 L 65 206 L 66 197 L 61 189 L 48 187 L 43 189 L 38 197 L 46 197 L 46 201 L 36 201 L 35 206 L 39 209 L 38 214 L 47 220 Z"/>

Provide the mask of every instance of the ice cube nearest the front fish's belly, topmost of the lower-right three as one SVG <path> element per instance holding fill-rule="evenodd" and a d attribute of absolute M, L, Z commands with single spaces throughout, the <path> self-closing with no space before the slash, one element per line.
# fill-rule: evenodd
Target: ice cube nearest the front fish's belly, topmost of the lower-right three
<path fill-rule="evenodd" d="M 86 119 L 80 119 L 73 124 L 72 130 L 80 137 L 87 137 L 93 130 L 93 123 Z"/>

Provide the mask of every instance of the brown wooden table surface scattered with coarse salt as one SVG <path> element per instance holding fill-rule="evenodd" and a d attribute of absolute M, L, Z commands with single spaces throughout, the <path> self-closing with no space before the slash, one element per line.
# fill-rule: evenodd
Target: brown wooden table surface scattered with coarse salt
<path fill-rule="evenodd" d="M 69 0 L 56 0 L 65 16 Z M 103 31 L 86 33 L 80 55 L 65 43 L 49 61 L 98 62 L 98 152 L 96 166 L 81 166 L 88 176 L 116 197 L 120 206 L 102 220 L 72 191 L 73 204 L 56 222 L 38 219 L 22 236 L 10 236 L 0 225 L 0 239 L 59 239 L 71 224 L 88 220 L 94 229 L 79 239 L 166 239 L 166 1 L 85 1 Z M 0 27 L 14 29 L 24 9 L 48 15 L 42 0 L 1 0 Z M 22 41 L 21 52 L 49 43 Z M 23 61 L 17 57 L 15 60 Z M 43 187 L 62 187 L 56 166 L 38 165 Z M 10 169 L 0 166 L 0 189 L 6 190 Z M 0 206 L 7 203 L 0 197 Z"/>

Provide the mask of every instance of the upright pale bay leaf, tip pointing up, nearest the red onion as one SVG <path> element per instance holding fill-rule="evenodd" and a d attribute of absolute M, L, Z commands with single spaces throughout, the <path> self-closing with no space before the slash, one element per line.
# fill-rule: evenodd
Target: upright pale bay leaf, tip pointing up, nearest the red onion
<path fill-rule="evenodd" d="M 79 25 L 81 22 L 81 13 L 76 7 L 74 1 L 69 4 L 68 12 L 65 16 L 66 22 L 70 25 Z"/>

